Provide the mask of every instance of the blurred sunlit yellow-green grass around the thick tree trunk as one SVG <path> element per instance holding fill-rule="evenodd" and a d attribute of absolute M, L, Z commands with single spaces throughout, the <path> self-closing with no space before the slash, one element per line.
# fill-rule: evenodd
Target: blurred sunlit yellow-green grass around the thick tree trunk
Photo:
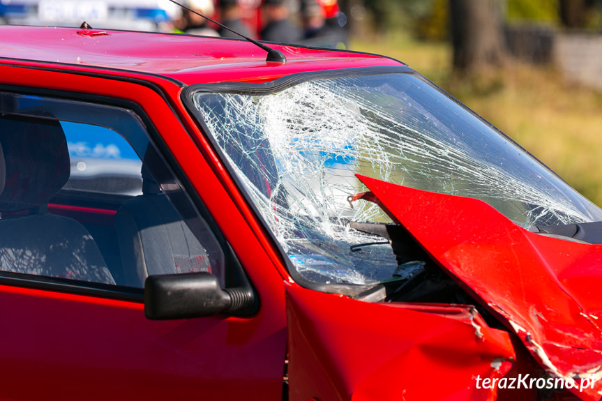
<path fill-rule="evenodd" d="M 355 39 L 351 48 L 415 68 L 602 206 L 602 93 L 566 82 L 553 68 L 520 65 L 485 82 L 452 83 L 449 46 L 399 33 Z"/>

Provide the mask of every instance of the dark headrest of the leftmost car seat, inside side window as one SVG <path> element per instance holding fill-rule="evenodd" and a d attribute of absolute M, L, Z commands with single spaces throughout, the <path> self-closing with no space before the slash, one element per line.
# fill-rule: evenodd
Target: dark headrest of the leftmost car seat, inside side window
<path fill-rule="evenodd" d="M 0 212 L 46 204 L 69 179 L 69 151 L 59 121 L 0 116 L 0 144 L 6 168 Z"/>

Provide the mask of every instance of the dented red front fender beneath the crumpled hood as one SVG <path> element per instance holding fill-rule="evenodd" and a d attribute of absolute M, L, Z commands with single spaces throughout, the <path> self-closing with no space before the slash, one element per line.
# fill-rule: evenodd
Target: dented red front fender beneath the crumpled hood
<path fill-rule="evenodd" d="M 289 399 L 495 400 L 516 358 L 474 307 L 367 303 L 287 285 Z"/>

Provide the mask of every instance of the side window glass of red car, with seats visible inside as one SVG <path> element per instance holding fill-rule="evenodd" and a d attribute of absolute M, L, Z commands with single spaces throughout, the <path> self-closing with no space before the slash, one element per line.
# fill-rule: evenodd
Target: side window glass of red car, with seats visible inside
<path fill-rule="evenodd" d="M 222 248 L 133 112 L 0 97 L 0 275 L 142 288 L 207 271 L 225 285 Z"/>

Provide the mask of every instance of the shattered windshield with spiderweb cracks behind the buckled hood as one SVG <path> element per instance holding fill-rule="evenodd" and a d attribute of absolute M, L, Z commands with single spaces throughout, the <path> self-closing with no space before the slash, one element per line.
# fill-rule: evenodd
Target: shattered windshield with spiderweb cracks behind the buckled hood
<path fill-rule="evenodd" d="M 195 107 L 307 280 L 403 277 L 384 238 L 349 225 L 390 222 L 375 204 L 349 203 L 366 190 L 356 174 L 481 199 L 527 228 L 602 220 L 597 206 L 415 75 L 306 81 L 269 94 L 234 90 L 197 91 Z"/>

